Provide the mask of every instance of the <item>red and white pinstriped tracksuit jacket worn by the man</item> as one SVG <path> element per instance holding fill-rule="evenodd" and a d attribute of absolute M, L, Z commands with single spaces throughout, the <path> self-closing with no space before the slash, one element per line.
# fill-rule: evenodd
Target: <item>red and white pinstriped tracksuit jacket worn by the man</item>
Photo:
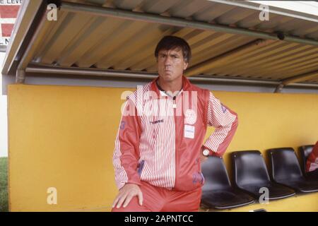
<path fill-rule="evenodd" d="M 204 184 L 200 156 L 207 126 L 216 130 L 204 147 L 222 156 L 237 129 L 237 114 L 184 76 L 175 100 L 158 90 L 157 79 L 127 97 L 115 141 L 115 181 L 119 189 L 142 180 L 192 191 Z"/>

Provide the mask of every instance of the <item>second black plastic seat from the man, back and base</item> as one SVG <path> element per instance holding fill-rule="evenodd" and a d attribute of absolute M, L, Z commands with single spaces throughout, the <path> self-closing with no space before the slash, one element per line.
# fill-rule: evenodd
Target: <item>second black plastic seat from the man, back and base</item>
<path fill-rule="evenodd" d="M 287 198 L 295 195 L 295 191 L 281 184 L 271 182 L 264 158 L 259 150 L 244 150 L 232 153 L 235 185 L 252 196 L 259 198 L 260 189 L 269 189 L 268 200 Z M 266 197 L 264 197 L 266 198 Z"/>

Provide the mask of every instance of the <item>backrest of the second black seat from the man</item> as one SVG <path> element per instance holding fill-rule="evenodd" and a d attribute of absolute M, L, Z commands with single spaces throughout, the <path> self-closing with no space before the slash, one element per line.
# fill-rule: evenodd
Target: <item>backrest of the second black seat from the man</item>
<path fill-rule="evenodd" d="M 265 161 L 259 150 L 242 150 L 232 153 L 235 185 L 267 184 L 270 182 Z"/>

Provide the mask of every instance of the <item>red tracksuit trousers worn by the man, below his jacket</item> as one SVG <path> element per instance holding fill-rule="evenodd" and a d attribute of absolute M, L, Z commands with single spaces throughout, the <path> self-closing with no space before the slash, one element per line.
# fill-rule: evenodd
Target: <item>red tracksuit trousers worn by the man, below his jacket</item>
<path fill-rule="evenodd" d="M 125 208 L 112 208 L 112 212 L 193 212 L 198 211 L 201 187 L 194 191 L 172 191 L 141 182 L 143 206 L 134 196 Z"/>

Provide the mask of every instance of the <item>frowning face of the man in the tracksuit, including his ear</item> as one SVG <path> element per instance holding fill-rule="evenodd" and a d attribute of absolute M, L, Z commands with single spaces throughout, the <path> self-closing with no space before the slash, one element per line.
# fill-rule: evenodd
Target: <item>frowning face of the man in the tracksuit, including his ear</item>
<path fill-rule="evenodd" d="M 158 52 L 158 73 L 164 82 L 171 82 L 182 76 L 187 66 L 180 48 L 162 49 Z"/>

